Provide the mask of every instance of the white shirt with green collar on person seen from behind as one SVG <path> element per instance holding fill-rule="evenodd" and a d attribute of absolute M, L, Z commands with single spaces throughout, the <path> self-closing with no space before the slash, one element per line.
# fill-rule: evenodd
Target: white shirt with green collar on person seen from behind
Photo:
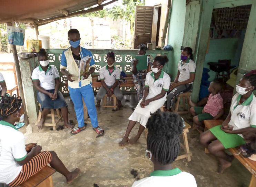
<path fill-rule="evenodd" d="M 149 177 L 135 181 L 132 187 L 196 187 L 196 179 L 179 168 L 156 170 Z"/>

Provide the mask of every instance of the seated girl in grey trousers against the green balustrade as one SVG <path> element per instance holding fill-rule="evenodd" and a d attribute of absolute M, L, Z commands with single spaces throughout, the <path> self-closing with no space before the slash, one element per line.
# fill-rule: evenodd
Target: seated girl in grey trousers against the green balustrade
<path fill-rule="evenodd" d="M 100 107 L 100 101 L 105 94 L 110 97 L 113 93 L 117 97 L 118 108 L 122 107 L 122 91 L 119 89 L 118 81 L 120 80 L 121 71 L 114 65 L 115 53 L 113 51 L 107 54 L 107 65 L 100 69 L 100 81 L 102 86 L 96 95 L 97 105 Z"/>

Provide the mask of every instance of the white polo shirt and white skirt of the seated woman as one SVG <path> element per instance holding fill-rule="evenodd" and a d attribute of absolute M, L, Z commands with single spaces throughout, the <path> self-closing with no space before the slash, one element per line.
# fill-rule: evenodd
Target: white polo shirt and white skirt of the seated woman
<path fill-rule="evenodd" d="M 156 95 L 160 94 L 162 90 L 168 91 L 171 83 L 170 76 L 165 73 L 164 71 L 161 72 L 158 79 L 155 79 L 154 72 L 150 71 L 146 75 L 146 82 L 145 87 L 149 87 L 148 96 L 146 100 L 155 97 Z M 149 105 L 142 108 L 140 106 L 142 99 L 139 101 L 138 105 L 136 106 L 134 112 L 129 117 L 129 120 L 139 122 L 142 126 L 146 127 L 148 118 L 150 117 L 150 113 L 154 113 L 159 109 L 161 106 L 164 105 L 166 101 L 166 94 L 164 97 L 152 101 Z"/>

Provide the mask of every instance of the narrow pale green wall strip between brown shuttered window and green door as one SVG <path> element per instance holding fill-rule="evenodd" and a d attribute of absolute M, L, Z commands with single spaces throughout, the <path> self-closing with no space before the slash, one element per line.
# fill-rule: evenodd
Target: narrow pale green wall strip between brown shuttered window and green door
<path fill-rule="evenodd" d="M 186 13 L 186 0 L 173 0 L 171 18 L 169 23 L 168 44 L 173 46 L 173 51 L 168 64 L 168 72 L 171 74 L 171 81 L 177 75 L 178 62 L 180 61 L 180 46 L 183 42 L 184 22 Z"/>

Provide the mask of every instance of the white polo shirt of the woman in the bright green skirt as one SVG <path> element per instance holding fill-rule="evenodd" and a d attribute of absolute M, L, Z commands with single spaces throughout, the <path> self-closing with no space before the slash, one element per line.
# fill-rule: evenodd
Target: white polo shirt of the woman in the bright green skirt
<path fill-rule="evenodd" d="M 256 97 L 252 93 L 247 100 L 239 104 L 241 97 L 242 95 L 235 94 L 230 106 L 231 118 L 229 125 L 232 125 L 234 130 L 256 127 Z M 243 137 L 242 134 L 238 135 Z"/>

